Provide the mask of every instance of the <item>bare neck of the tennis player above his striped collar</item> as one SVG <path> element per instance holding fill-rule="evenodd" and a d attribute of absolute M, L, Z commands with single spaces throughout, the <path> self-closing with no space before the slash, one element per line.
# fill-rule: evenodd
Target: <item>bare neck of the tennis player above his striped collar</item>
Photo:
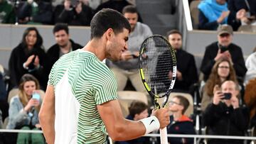
<path fill-rule="evenodd" d="M 102 45 L 102 41 L 100 39 L 90 40 L 89 43 L 87 43 L 87 45 L 85 45 L 85 47 L 82 48 L 82 50 L 87 50 L 89 52 L 94 53 L 100 61 L 106 58 L 105 48 L 104 45 Z"/>

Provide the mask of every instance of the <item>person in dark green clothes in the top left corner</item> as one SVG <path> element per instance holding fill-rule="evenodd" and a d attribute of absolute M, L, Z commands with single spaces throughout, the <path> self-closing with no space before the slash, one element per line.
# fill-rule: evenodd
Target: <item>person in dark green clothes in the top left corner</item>
<path fill-rule="evenodd" d="M 8 0 L 0 0 L 0 23 L 15 23 L 14 6 Z"/>

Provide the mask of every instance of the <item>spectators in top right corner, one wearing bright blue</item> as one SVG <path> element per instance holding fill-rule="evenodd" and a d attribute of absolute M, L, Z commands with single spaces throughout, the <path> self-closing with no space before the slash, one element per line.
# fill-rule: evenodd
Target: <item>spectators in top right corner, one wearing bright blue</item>
<path fill-rule="evenodd" d="M 201 30 L 216 30 L 220 24 L 228 24 L 234 31 L 241 25 L 256 25 L 254 0 L 204 0 L 198 10 Z"/>

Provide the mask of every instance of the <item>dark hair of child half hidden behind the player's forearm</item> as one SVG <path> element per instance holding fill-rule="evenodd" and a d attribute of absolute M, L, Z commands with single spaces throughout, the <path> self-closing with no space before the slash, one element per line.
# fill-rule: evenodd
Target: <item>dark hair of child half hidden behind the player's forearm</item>
<path fill-rule="evenodd" d="M 142 101 L 132 101 L 132 104 L 129 106 L 129 115 L 134 118 L 135 114 L 142 113 L 145 109 L 148 109 L 148 106 Z"/>

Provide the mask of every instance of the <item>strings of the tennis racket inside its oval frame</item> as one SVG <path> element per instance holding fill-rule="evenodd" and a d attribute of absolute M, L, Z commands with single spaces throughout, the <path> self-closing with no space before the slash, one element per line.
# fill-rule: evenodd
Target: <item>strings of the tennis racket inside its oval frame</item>
<path fill-rule="evenodd" d="M 146 83 L 159 97 L 169 90 L 172 74 L 172 55 L 170 46 L 161 38 L 152 37 L 144 43 L 141 66 Z M 150 58 L 149 58 L 150 57 Z M 164 93 L 162 93 L 164 92 Z"/>

